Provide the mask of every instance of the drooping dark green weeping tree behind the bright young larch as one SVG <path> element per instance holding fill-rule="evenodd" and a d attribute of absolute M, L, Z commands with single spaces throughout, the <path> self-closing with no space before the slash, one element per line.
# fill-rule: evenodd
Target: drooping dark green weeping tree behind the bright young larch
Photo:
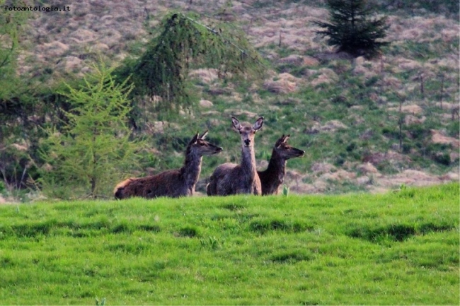
<path fill-rule="evenodd" d="M 178 112 L 193 102 L 188 90 L 190 66 L 217 68 L 223 76 L 261 70 L 260 57 L 244 35 L 230 29 L 225 24 L 209 27 L 182 13 L 170 13 L 144 54 L 128 59 L 114 74 L 121 81 L 132 75 L 132 94 L 139 99 L 149 96 L 156 110 Z"/>

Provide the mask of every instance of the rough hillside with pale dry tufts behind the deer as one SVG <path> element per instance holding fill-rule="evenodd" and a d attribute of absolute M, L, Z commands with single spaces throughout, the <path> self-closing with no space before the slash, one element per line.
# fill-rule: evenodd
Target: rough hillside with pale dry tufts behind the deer
<path fill-rule="evenodd" d="M 282 134 L 306 151 L 287 164 L 286 183 L 294 193 L 381 192 L 459 181 L 458 5 L 455 13 L 449 1 L 432 7 L 374 2 L 391 25 L 391 45 L 374 61 L 335 54 L 315 35 L 311 21 L 328 18 L 323 1 L 65 4 L 70 11 L 33 13 L 18 73 L 51 86 L 83 76 L 100 54 L 113 65 L 138 55 L 151 38 L 144 25 L 155 27 L 168 11 L 214 16 L 241 26 L 270 62 L 268 77 L 228 83 L 212 69 L 192 71 L 200 102 L 168 122 L 152 114 L 144 133 L 154 140 L 154 160 L 133 175 L 179 167 L 190 131 L 209 129 L 209 139 L 224 153 L 205 158 L 197 187 L 203 192 L 216 165 L 239 160 L 238 138 L 229 129 L 234 115 L 251 122 L 265 116 L 255 139 L 258 168 L 267 165 Z"/>

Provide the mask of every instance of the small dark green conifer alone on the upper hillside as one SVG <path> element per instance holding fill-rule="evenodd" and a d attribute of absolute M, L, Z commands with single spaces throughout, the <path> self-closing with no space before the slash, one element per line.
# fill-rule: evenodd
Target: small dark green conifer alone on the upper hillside
<path fill-rule="evenodd" d="M 367 0 L 326 0 L 330 12 L 330 23 L 314 21 L 325 30 L 317 34 L 328 36 L 328 45 L 335 46 L 338 52 L 347 52 L 353 57 L 376 57 L 381 47 L 389 42 L 381 41 L 386 37 L 386 17 L 370 18 L 372 9 Z"/>

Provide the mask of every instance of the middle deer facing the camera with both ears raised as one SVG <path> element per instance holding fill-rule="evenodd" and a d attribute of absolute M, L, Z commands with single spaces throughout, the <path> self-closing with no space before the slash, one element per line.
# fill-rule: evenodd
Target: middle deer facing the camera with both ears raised
<path fill-rule="evenodd" d="M 208 196 L 227 196 L 229 194 L 262 194 L 259 176 L 255 169 L 254 136 L 263 125 L 263 117 L 255 124 L 241 125 L 231 117 L 234 129 L 241 137 L 241 164 L 224 163 L 212 173 L 207 185 Z"/>

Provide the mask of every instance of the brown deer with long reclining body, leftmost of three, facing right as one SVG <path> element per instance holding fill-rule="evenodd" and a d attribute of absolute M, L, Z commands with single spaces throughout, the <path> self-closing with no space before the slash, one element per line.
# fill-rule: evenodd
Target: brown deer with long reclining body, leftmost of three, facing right
<path fill-rule="evenodd" d="M 130 196 L 156 198 L 159 196 L 192 196 L 195 184 L 200 177 L 203 155 L 212 155 L 222 152 L 222 148 L 205 141 L 207 131 L 196 134 L 188 143 L 185 151 L 183 167 L 176 170 L 167 170 L 158 175 L 149 177 L 131 177 L 120 182 L 113 193 L 115 199 L 126 199 Z"/>

